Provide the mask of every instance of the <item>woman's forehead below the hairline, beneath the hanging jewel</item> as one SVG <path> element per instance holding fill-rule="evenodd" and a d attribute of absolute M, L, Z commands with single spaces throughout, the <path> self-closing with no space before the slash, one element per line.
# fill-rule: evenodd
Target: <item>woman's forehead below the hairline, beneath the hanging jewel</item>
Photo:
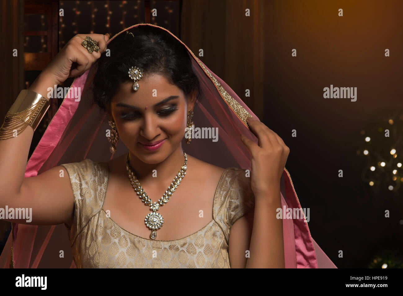
<path fill-rule="evenodd" d="M 148 105 L 165 99 L 170 95 L 183 96 L 183 91 L 160 74 L 144 75 L 138 81 L 139 89 L 134 91 L 133 80 L 121 83 L 112 98 L 112 103 L 130 102 L 133 105 L 139 106 L 142 103 Z"/>

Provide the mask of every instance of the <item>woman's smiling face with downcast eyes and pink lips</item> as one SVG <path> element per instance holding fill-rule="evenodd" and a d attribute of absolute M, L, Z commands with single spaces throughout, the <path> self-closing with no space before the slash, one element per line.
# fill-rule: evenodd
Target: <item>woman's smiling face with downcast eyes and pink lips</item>
<path fill-rule="evenodd" d="M 144 163 L 157 164 L 181 145 L 194 100 L 188 103 L 183 91 L 159 74 L 145 75 L 138 83 L 137 91 L 133 82 L 120 85 L 108 115 L 129 151 Z"/>

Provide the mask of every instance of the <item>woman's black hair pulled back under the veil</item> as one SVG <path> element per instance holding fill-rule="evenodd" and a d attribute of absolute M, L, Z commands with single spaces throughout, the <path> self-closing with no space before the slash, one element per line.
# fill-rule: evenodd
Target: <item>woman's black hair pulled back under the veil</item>
<path fill-rule="evenodd" d="M 129 68 L 143 68 L 143 75 L 160 74 L 179 87 L 188 97 L 200 98 L 200 82 L 185 46 L 170 33 L 152 26 L 139 26 L 120 33 L 98 59 L 93 80 L 93 103 L 102 111 L 110 110 L 110 101 L 120 83 L 132 81 Z M 141 85 L 141 83 L 139 83 Z"/>

